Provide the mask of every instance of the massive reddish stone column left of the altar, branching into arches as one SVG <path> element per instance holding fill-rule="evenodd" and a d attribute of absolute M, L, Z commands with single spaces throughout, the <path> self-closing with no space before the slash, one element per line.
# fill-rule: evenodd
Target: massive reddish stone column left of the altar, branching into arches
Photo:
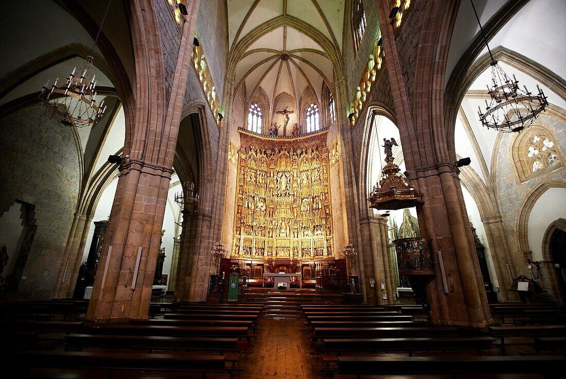
<path fill-rule="evenodd" d="M 169 104 L 157 16 L 149 0 L 130 1 L 136 106 L 126 123 L 125 161 L 85 320 L 105 324 L 147 318 L 181 111 L 191 68 L 198 0 L 187 2 Z"/>

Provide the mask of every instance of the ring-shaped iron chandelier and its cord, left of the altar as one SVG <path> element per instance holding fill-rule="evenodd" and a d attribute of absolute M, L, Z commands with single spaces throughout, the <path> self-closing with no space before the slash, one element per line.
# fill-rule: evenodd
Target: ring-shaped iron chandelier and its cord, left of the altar
<path fill-rule="evenodd" d="M 96 102 L 96 75 L 93 75 L 92 66 L 96 42 L 98 41 L 98 36 L 100 36 L 106 15 L 108 15 L 111 2 L 112 0 L 109 0 L 91 53 L 87 55 L 79 71 L 76 71 L 76 67 L 73 68 L 71 74 L 67 77 L 65 85 L 57 87 L 57 82 L 59 81 L 59 78 L 57 78 L 50 87 L 48 80 L 41 89 L 40 100 L 53 117 L 63 125 L 79 128 L 89 126 L 100 121 L 106 111 L 104 100 L 100 104 Z M 77 74 L 82 72 L 82 74 L 75 76 L 75 72 Z"/>

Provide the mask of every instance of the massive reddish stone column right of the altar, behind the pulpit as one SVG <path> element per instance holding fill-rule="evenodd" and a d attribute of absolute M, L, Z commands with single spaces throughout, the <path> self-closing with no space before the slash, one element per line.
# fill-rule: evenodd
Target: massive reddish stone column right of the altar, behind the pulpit
<path fill-rule="evenodd" d="M 424 194 L 424 204 L 417 206 L 419 229 L 422 237 L 432 238 L 436 275 L 426 285 L 431 319 L 439 324 L 483 328 L 491 322 L 491 316 L 468 217 L 463 215 L 465 206 L 457 167 L 448 146 L 447 131 L 442 127 L 443 75 L 457 3 L 428 0 L 423 15 L 419 15 L 424 23 L 414 51 L 414 84 L 406 81 L 407 67 L 397 50 L 396 31 L 387 18 L 391 2 L 376 0 L 376 5 L 407 176 Z M 414 87 L 413 108 L 409 103 L 409 85 Z M 440 275 L 438 252 L 444 261 L 448 293 Z"/>

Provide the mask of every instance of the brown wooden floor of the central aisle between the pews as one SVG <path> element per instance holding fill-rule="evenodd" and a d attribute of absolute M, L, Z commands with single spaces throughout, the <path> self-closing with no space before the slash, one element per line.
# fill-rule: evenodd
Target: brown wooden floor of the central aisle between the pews
<path fill-rule="evenodd" d="M 261 330 L 239 363 L 234 379 L 319 379 L 319 360 L 302 330 L 300 318 L 263 318 Z"/>

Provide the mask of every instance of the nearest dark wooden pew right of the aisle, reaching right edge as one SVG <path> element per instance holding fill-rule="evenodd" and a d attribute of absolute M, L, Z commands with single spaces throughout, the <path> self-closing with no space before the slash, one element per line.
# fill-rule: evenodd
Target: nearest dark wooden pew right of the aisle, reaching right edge
<path fill-rule="evenodd" d="M 447 357 L 338 357 L 338 372 L 362 375 L 531 373 L 559 379 L 566 375 L 566 357 L 537 356 L 451 356 Z"/>

